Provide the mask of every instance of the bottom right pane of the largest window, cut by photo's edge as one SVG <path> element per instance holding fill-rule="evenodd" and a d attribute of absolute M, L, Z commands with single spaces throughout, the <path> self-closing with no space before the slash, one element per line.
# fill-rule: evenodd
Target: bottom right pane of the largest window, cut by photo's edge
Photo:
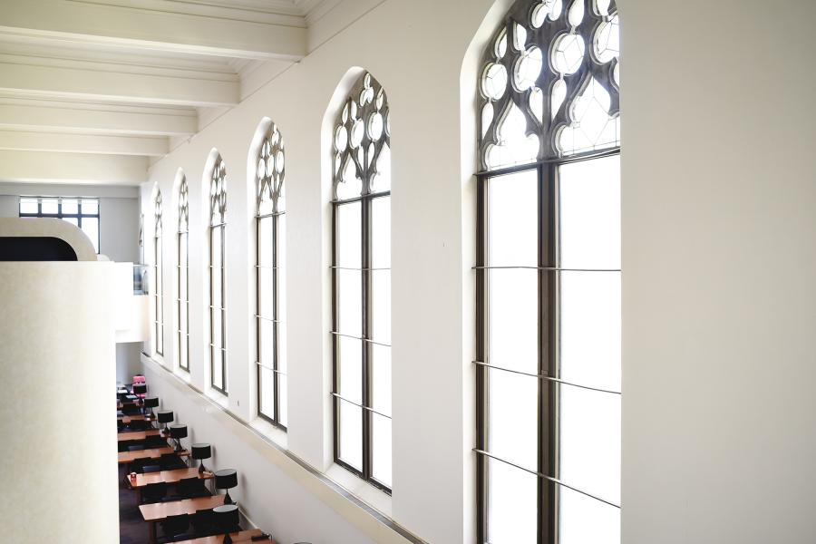
<path fill-rule="evenodd" d="M 620 509 L 559 488 L 560 544 L 620 544 Z"/>

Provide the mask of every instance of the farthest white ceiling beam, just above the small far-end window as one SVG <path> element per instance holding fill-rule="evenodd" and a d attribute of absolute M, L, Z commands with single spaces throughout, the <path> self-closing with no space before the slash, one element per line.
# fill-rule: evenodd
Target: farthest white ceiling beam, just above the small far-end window
<path fill-rule="evenodd" d="M 0 151 L 0 181 L 139 185 L 147 180 L 147 157 Z"/>

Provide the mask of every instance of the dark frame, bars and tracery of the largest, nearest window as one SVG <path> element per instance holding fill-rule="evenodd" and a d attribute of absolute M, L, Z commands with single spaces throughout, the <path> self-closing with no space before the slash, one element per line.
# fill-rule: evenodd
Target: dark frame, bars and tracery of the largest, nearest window
<path fill-rule="evenodd" d="M 584 4 L 583 21 L 577 28 L 571 31 L 568 28 L 568 10 L 577 3 Z M 537 477 L 538 481 L 538 505 L 537 505 L 537 544 L 557 544 L 559 542 L 559 487 L 568 487 L 572 491 L 577 491 L 592 499 L 600 500 L 606 504 L 620 508 L 619 504 L 597 497 L 584 490 L 568 485 L 568 482 L 559 481 L 559 387 L 577 386 L 585 387 L 581 384 L 569 384 L 560 379 L 559 374 L 559 278 L 561 272 L 566 271 L 560 268 L 559 251 L 559 169 L 566 164 L 583 160 L 597 160 L 604 157 L 618 155 L 620 153 L 619 142 L 617 146 L 592 149 L 586 151 L 574 150 L 570 153 L 559 151 L 556 139 L 559 130 L 570 126 L 572 123 L 569 106 L 583 92 L 590 78 L 595 78 L 610 94 L 610 116 L 619 114 L 619 92 L 617 88 L 617 56 L 607 62 L 599 61 L 591 52 L 593 47 L 593 34 L 606 23 L 613 15 L 617 15 L 617 5 L 615 0 L 611 0 L 607 14 L 599 14 L 595 9 L 593 0 L 575 0 L 575 2 L 564 2 L 561 6 L 561 13 L 557 19 L 546 21 L 539 28 L 531 28 L 530 17 L 535 9 L 543 7 L 535 0 L 518 0 L 503 17 L 497 31 L 491 36 L 491 41 L 485 47 L 482 57 L 482 70 L 479 72 L 480 88 L 481 78 L 486 73 L 486 68 L 491 63 L 501 63 L 508 74 L 507 87 L 498 99 L 493 99 L 479 94 L 479 115 L 477 115 L 479 125 L 479 169 L 475 174 L 476 191 L 476 237 L 477 253 L 476 265 L 473 267 L 476 276 L 476 360 L 473 362 L 476 375 L 476 425 L 477 425 L 477 445 L 473 449 L 476 453 L 477 463 L 477 541 L 480 544 L 487 544 L 489 537 L 489 512 L 488 512 L 488 464 L 489 461 L 499 461 L 509 464 L 521 471 L 527 471 Z M 515 47 L 513 42 L 514 25 L 521 24 L 527 34 L 525 47 L 536 45 L 543 52 L 544 69 L 546 72 L 550 45 L 563 34 L 575 32 L 580 34 L 585 41 L 586 51 L 581 66 L 575 73 L 561 76 L 567 83 L 567 95 L 556 112 L 550 111 L 549 92 L 552 82 L 541 81 L 547 76 L 539 76 L 536 85 L 539 89 L 544 89 L 543 94 L 543 114 L 542 121 L 536 122 L 534 113 L 530 107 L 531 89 L 520 91 L 511 81 L 513 70 L 516 67 L 521 51 L 512 50 Z M 498 54 L 500 40 L 506 40 L 507 54 Z M 513 54 L 515 53 L 515 54 Z M 499 58 L 500 57 L 500 58 Z M 552 76 L 549 76 L 552 77 Z M 508 108 L 514 104 L 520 109 L 527 120 L 528 133 L 536 133 L 539 136 L 539 152 L 535 160 L 529 160 L 522 164 L 511 166 L 493 167 L 488 164 L 487 155 L 491 145 L 500 143 L 499 123 L 502 121 L 501 112 L 507 112 Z M 482 111 L 486 105 L 491 105 L 490 121 L 486 121 Z M 538 262 L 536 267 L 516 267 L 533 268 L 538 274 L 537 299 L 538 310 L 538 335 L 539 335 L 539 356 L 538 374 L 526 374 L 515 370 L 492 365 L 489 361 L 490 354 L 490 334 L 489 328 L 489 279 L 491 270 L 488 263 L 488 226 L 490 219 L 490 201 L 488 198 L 488 185 L 497 182 L 502 176 L 518 174 L 521 172 L 535 171 L 538 183 Z M 513 267 L 497 267 L 513 268 Z M 598 270 L 599 272 L 620 272 L 620 270 Z M 489 371 L 515 372 L 525 374 L 538 382 L 538 426 L 539 435 L 537 467 L 535 470 L 529 467 L 522 467 L 512 461 L 502 459 L 491 454 L 489 450 Z M 589 388 L 593 389 L 593 388 Z M 618 391 L 597 390 L 601 393 L 620 394 Z"/>

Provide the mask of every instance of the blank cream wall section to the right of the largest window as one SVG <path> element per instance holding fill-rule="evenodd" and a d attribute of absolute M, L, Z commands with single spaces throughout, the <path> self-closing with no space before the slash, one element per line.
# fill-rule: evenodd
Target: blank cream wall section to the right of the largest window
<path fill-rule="evenodd" d="M 816 4 L 621 1 L 623 542 L 816 540 Z"/>

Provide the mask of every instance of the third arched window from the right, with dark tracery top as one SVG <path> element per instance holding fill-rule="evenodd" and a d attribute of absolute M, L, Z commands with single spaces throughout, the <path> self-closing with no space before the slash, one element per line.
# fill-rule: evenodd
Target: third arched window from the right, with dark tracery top
<path fill-rule="evenodd" d="M 284 142 L 273 123 L 257 158 L 257 413 L 287 426 L 286 174 Z"/>

